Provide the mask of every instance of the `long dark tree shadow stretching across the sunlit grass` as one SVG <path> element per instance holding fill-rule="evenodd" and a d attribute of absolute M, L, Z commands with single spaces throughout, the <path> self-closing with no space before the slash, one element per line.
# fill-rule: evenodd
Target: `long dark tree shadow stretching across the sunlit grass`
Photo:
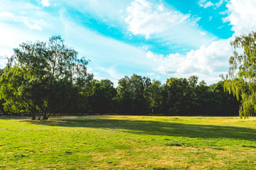
<path fill-rule="evenodd" d="M 183 123 L 166 123 L 150 120 L 117 120 L 117 119 L 81 119 L 81 120 L 47 120 L 29 121 L 37 125 L 99 128 L 119 130 L 134 134 L 166 135 L 174 137 L 228 138 L 256 142 L 256 130 L 220 125 L 193 125 Z"/>

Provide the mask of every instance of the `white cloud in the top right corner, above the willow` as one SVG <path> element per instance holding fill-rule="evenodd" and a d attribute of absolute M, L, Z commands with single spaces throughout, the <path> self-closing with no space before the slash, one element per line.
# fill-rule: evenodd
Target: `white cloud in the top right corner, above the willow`
<path fill-rule="evenodd" d="M 227 4 L 229 16 L 224 22 L 230 22 L 235 35 L 247 34 L 256 30 L 256 1 L 230 0 Z"/>

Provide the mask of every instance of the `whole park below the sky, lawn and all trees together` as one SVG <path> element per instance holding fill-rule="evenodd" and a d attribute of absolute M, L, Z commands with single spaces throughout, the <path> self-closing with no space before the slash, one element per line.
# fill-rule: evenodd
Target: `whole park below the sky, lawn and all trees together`
<path fill-rule="evenodd" d="M 256 169 L 256 33 L 215 84 L 132 74 L 114 86 L 60 35 L 0 69 L 0 169 Z"/>

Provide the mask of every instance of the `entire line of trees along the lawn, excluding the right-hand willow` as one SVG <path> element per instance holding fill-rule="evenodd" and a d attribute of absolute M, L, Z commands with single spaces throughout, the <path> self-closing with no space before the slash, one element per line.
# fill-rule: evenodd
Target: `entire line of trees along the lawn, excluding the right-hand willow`
<path fill-rule="evenodd" d="M 167 79 L 165 84 L 133 74 L 96 80 L 88 60 L 64 45 L 60 36 L 48 42 L 26 42 L 1 69 L 1 113 L 119 115 L 238 115 L 240 102 L 225 91 L 225 82 L 208 86 L 198 77 Z M 239 98 L 238 98 L 239 99 Z"/>

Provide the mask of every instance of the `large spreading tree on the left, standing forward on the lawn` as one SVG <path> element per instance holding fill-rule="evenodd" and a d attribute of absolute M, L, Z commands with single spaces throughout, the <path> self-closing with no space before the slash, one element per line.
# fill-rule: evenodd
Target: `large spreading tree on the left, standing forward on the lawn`
<path fill-rule="evenodd" d="M 73 84 L 76 79 L 85 77 L 87 63 L 84 57 L 78 58 L 78 52 L 65 46 L 60 36 L 53 36 L 47 42 L 22 43 L 20 48 L 14 49 L 1 78 L 0 83 L 5 84 L 0 90 L 5 106 L 11 106 L 15 101 L 16 108 L 25 107 L 26 111 L 38 113 L 39 118 L 43 113 L 43 119 L 48 119 L 50 112 L 55 110 L 52 99 L 56 82 L 69 81 Z M 18 77 L 21 73 L 26 75 L 26 79 Z M 19 82 L 12 96 L 4 90 L 14 83 L 6 79 L 10 74 L 17 78 L 14 82 Z"/>

